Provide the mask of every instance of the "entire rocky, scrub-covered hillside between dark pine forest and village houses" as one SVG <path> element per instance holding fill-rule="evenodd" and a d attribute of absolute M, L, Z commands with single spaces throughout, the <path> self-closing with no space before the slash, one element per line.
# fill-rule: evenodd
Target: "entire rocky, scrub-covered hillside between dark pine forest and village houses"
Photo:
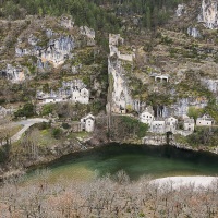
<path fill-rule="evenodd" d="M 218 98 L 217 1 L 179 4 L 169 23 L 155 29 L 137 28 L 142 17 L 137 21 L 134 27 L 128 19 L 122 22 L 122 37 L 104 38 L 109 53 L 96 43 L 99 33 L 75 26 L 72 17 L 1 21 L 1 75 L 12 82 L 28 78 L 45 93 L 81 80 L 95 107 L 108 97 L 107 110 L 113 113 L 148 106 L 155 117 L 181 117 L 190 107 L 207 112 L 210 99 Z"/>

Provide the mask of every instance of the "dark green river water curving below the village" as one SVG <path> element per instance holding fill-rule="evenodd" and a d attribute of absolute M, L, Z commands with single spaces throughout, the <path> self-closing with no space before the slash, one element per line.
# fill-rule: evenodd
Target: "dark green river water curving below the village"
<path fill-rule="evenodd" d="M 124 170 L 131 180 L 142 175 L 218 175 L 218 156 L 171 146 L 109 144 L 66 155 L 43 168 L 49 169 L 50 181 L 90 180 L 120 170 Z M 31 180 L 37 177 L 34 171 L 28 173 Z"/>

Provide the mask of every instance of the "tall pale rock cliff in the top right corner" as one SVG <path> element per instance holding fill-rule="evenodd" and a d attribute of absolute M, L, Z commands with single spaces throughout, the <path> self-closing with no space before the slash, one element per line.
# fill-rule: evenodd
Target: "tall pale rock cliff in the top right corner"
<path fill-rule="evenodd" d="M 203 22 L 207 28 L 218 27 L 217 0 L 203 0 L 198 22 Z"/>

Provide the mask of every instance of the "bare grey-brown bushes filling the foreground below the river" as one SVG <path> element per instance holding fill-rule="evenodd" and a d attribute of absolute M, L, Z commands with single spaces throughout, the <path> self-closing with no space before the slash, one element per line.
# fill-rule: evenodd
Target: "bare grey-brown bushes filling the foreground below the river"
<path fill-rule="evenodd" d="M 192 217 L 218 216 L 218 182 L 210 187 L 192 184 L 172 189 L 146 178 L 130 182 L 125 173 L 89 182 L 48 183 L 48 172 L 20 186 L 0 189 L 0 216 L 7 217 Z"/>

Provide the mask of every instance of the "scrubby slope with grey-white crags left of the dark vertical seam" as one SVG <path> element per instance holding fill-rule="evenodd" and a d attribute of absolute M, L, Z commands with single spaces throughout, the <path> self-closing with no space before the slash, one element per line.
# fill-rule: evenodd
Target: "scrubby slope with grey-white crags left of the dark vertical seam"
<path fill-rule="evenodd" d="M 34 99 L 38 90 L 57 92 L 62 82 L 80 80 L 89 92 L 88 99 L 83 96 L 80 101 L 87 104 L 92 98 L 88 111 L 95 113 L 104 107 L 107 53 L 96 44 L 94 29 L 75 26 L 72 17 L 50 16 L 0 20 L 0 28 L 2 102 L 10 94 L 16 109 L 16 102 Z M 4 92 L 4 86 L 9 92 Z"/>

